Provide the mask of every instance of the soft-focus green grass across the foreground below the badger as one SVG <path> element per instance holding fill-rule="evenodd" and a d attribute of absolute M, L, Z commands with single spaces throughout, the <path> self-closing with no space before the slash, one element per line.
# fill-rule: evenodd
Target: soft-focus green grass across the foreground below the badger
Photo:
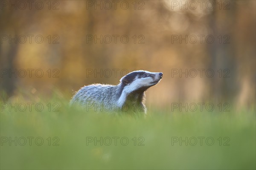
<path fill-rule="evenodd" d="M 45 101 L 45 107 L 47 102 L 56 101 Z M 0 169 L 256 169 L 254 110 L 173 113 L 152 108 L 146 118 L 87 113 L 67 107 L 65 101 L 61 101 L 59 112 L 3 109 Z M 14 140 L 15 136 L 20 139 L 17 146 L 3 142 L 5 137 Z M 24 146 L 20 137 L 26 138 Z M 34 137 L 31 146 L 27 137 Z M 35 144 L 37 137 L 44 139 L 41 146 Z M 52 146 L 57 140 L 54 137 L 59 139 L 58 146 Z M 88 137 L 102 137 L 102 146 L 100 142 L 87 144 Z M 105 145 L 108 137 L 112 139 L 109 146 Z M 119 138 L 116 145 L 113 137 Z M 129 139 L 126 146 L 122 145 L 125 139 L 120 142 L 122 137 Z M 188 137 L 187 146 L 185 142 L 172 143 L 180 137 Z M 204 137 L 202 145 L 198 137 Z M 212 146 L 206 143 L 208 137 L 214 139 Z M 195 146 L 194 139 L 198 142 Z"/>

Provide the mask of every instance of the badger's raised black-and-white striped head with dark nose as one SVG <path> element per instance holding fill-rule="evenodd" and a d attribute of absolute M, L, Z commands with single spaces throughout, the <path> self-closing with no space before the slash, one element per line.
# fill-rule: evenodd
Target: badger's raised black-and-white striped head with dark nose
<path fill-rule="evenodd" d="M 129 91 L 146 90 L 149 87 L 156 85 L 163 77 L 163 73 L 149 71 L 133 71 L 120 79 Z"/>

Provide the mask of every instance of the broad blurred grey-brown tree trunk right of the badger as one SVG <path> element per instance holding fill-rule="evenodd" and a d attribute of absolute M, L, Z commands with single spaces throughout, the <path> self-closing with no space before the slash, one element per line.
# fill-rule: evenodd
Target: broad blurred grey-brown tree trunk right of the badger
<path fill-rule="evenodd" d="M 217 1 L 215 1 L 216 3 Z M 214 8 L 212 14 L 209 15 L 209 28 L 212 29 L 212 35 L 215 38 L 212 44 L 208 44 L 208 51 L 212 60 L 209 68 L 214 71 L 214 76 L 210 78 L 210 94 L 215 102 L 228 102 L 227 99 L 233 99 L 236 95 L 237 57 L 234 52 L 236 44 L 232 41 L 233 34 L 230 31 L 235 22 L 233 19 L 236 18 L 233 17 L 236 16 L 235 7 L 236 3 L 232 4 L 232 10 Z M 225 23 L 225 25 L 218 25 L 220 23 Z M 229 40 L 227 40 L 228 37 L 230 37 Z"/>

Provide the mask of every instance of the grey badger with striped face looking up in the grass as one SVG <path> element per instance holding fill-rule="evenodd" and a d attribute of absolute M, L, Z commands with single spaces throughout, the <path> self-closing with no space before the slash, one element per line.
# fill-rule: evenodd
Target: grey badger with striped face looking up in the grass
<path fill-rule="evenodd" d="M 162 72 L 133 71 L 122 77 L 118 85 L 92 84 L 82 87 L 72 97 L 70 105 L 83 106 L 87 111 L 94 108 L 94 111 L 146 113 L 145 91 L 162 77 Z"/>

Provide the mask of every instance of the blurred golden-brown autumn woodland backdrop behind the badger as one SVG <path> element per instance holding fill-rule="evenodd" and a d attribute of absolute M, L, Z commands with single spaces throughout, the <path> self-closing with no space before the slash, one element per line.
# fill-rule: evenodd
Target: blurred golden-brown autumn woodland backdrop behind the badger
<path fill-rule="evenodd" d="M 116 85 L 143 69 L 163 72 L 146 92 L 148 105 L 251 107 L 255 7 L 253 0 L 1 1 L 1 99 L 56 90 L 70 99 L 84 85 Z"/>

